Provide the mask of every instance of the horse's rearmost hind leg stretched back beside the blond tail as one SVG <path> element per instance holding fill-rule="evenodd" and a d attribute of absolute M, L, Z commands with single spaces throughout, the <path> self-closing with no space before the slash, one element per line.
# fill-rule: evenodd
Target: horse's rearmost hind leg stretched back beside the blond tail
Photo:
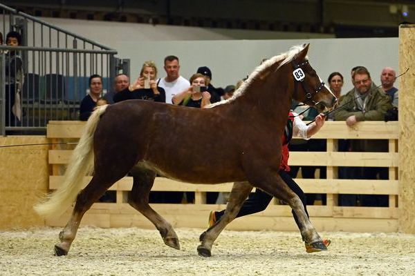
<path fill-rule="evenodd" d="M 89 184 L 77 195 L 71 218 L 64 230 L 59 233 L 60 243 L 55 244 L 55 255 L 61 256 L 68 254 L 84 213 L 91 208 L 95 201 L 100 199 L 109 187 L 118 181 L 118 179 L 124 177 L 126 173 L 127 172 L 120 173 L 118 178 L 113 178 L 113 175 L 111 174 L 110 178 L 108 175 L 98 172 L 92 177 Z"/>

